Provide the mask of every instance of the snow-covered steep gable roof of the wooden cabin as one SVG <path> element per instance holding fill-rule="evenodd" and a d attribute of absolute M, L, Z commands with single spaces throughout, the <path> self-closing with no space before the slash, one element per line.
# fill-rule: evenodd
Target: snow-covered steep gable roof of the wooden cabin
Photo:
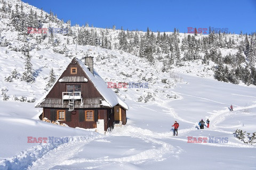
<path fill-rule="evenodd" d="M 106 101 L 102 101 L 102 105 L 110 106 L 110 107 L 120 105 L 125 109 L 129 109 L 129 106 L 121 98 L 119 98 L 113 90 L 111 90 L 110 88 L 107 88 L 106 82 L 100 77 L 100 75 L 97 72 L 95 72 L 93 70 L 93 73 L 94 73 L 94 75 L 93 75 L 89 71 L 88 66 L 86 66 L 81 60 L 79 60 L 77 58 L 73 58 L 73 60 L 75 60 L 78 63 L 78 65 L 82 68 L 82 70 L 87 75 L 87 77 L 93 83 L 94 87 L 99 91 L 100 95 L 106 100 Z M 62 72 L 62 74 L 63 74 L 63 72 Z M 58 80 L 59 79 L 57 79 L 57 81 L 55 81 L 52 88 L 55 86 L 55 84 L 58 82 Z M 44 94 L 44 96 L 41 99 L 38 100 L 36 107 L 41 107 L 40 104 L 45 100 L 46 96 L 49 94 L 51 89 L 48 92 L 46 92 L 46 94 Z"/>

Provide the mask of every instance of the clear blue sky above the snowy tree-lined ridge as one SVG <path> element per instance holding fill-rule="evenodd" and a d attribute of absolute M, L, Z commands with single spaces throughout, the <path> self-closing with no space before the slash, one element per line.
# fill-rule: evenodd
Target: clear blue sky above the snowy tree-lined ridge
<path fill-rule="evenodd" d="M 256 1 L 59 1 L 22 0 L 44 11 L 57 13 L 71 24 L 93 24 L 94 27 L 129 30 L 188 32 L 193 28 L 228 28 L 231 33 L 256 32 Z"/>

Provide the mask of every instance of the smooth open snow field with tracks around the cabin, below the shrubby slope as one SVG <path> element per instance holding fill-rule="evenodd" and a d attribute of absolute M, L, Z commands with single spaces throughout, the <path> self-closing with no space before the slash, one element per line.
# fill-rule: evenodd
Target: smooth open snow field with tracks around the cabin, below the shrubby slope
<path fill-rule="evenodd" d="M 179 99 L 145 104 L 126 99 L 127 124 L 106 135 L 32 120 L 29 114 L 19 114 L 30 103 L 1 101 L 1 108 L 12 109 L 1 111 L 0 169 L 255 169 L 256 146 L 233 135 L 236 129 L 255 131 L 255 87 L 177 74 L 185 83 L 170 92 Z M 234 112 L 229 112 L 231 104 Z M 198 130 L 201 118 L 209 118 L 209 129 Z M 180 127 L 173 137 L 175 120 Z M 27 143 L 27 137 L 52 136 L 69 141 Z M 228 142 L 188 143 L 187 137 L 228 138 Z"/>

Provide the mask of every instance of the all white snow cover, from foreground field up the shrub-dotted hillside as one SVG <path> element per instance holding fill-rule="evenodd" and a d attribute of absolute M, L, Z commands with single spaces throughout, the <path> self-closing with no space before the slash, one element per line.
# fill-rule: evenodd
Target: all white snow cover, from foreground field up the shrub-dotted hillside
<path fill-rule="evenodd" d="M 12 4 L 14 11 L 15 4 L 21 3 L 18 0 L 6 2 Z M 26 14 L 30 8 L 41 13 L 36 7 L 23 5 Z M 0 4 L 0 8 L 2 6 Z M 54 35 L 60 41 L 57 47 L 48 43 L 49 33 L 41 44 L 35 40 L 39 37 L 37 34 L 29 35 L 25 43 L 19 40 L 20 34 L 10 28 L 11 20 L 7 14 L 0 10 L 0 15 L 4 16 L 0 20 L 1 38 L 9 42 L 9 46 L 0 47 L 0 170 L 256 169 L 255 143 L 245 144 L 233 134 L 236 129 L 251 134 L 256 131 L 255 86 L 214 80 L 213 62 L 209 65 L 202 64 L 202 60 L 183 62 L 181 67 L 173 66 L 171 71 L 162 72 L 163 63 L 157 59 L 152 66 L 145 58 L 121 50 L 80 45 L 76 50 L 71 36 Z M 49 24 L 59 27 L 57 23 L 49 22 L 44 23 L 43 28 L 48 28 Z M 79 28 L 72 27 L 73 31 Z M 108 31 L 113 38 L 112 45 L 119 43 L 120 30 L 94 30 L 98 33 Z M 180 41 L 184 36 L 180 33 Z M 197 38 L 203 36 L 207 35 Z M 239 35 L 227 35 L 227 39 L 229 37 L 237 39 L 237 44 L 244 40 Z M 67 38 L 71 44 L 66 43 Z M 26 57 L 14 50 L 28 46 L 31 47 L 29 54 L 35 78 L 32 83 L 20 80 Z M 61 50 L 68 55 L 60 54 L 58 51 Z M 220 50 L 222 56 L 237 52 L 237 49 Z M 94 69 L 105 82 L 148 82 L 148 89 L 113 89 L 129 106 L 127 124 L 122 128 L 102 135 L 95 129 L 75 129 L 39 120 L 42 109 L 34 106 L 45 95 L 50 70 L 53 69 L 58 78 L 76 51 L 78 59 L 85 57 L 87 52 L 94 57 Z M 5 78 L 14 69 L 19 73 L 18 78 L 6 82 Z M 28 102 L 33 100 L 34 103 Z M 229 111 L 231 104 L 234 112 Z M 198 122 L 202 118 L 204 121 L 209 118 L 209 129 L 199 129 Z M 175 137 L 172 132 L 174 121 L 180 125 Z M 46 143 L 28 143 L 28 137 L 48 140 Z M 60 140 L 50 143 L 49 137 Z M 207 138 L 207 142 L 188 143 L 188 137 Z M 210 137 L 214 142 L 210 142 Z M 226 140 L 218 143 L 218 138 Z"/>

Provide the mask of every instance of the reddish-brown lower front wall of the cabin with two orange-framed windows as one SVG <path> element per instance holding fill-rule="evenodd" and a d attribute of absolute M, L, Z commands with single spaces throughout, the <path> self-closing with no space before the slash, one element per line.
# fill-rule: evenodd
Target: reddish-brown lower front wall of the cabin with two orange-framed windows
<path fill-rule="evenodd" d="M 59 114 L 65 111 L 65 120 L 59 120 Z M 87 120 L 86 114 L 91 114 L 93 112 L 92 120 Z M 76 109 L 72 112 L 68 111 L 68 109 L 63 108 L 44 108 L 43 116 L 48 118 L 51 121 L 57 121 L 60 123 L 66 123 L 71 128 L 84 128 L 84 129 L 93 129 L 97 128 L 98 119 L 104 120 L 104 130 L 113 125 L 111 123 L 111 109 Z M 89 118 L 89 117 L 88 117 Z M 110 118 L 110 119 L 109 119 Z"/>

